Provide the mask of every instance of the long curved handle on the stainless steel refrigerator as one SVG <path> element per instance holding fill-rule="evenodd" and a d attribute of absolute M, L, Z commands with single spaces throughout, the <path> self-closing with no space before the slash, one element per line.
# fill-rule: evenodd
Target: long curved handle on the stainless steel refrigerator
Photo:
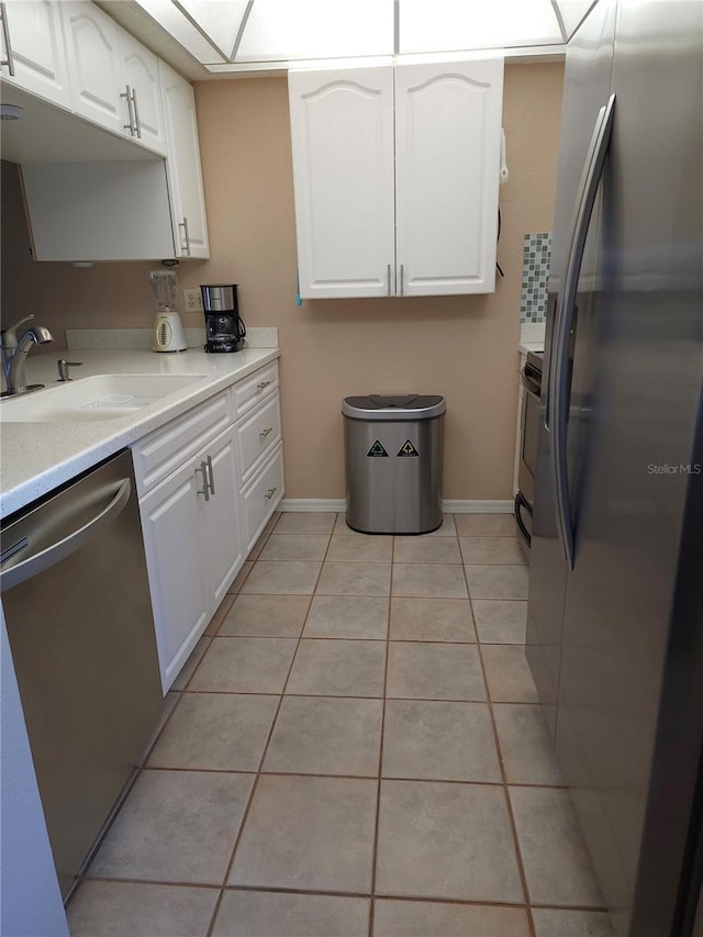
<path fill-rule="evenodd" d="M 595 202 L 595 193 L 603 174 L 605 156 L 610 146 L 615 111 L 615 94 L 599 111 L 593 136 L 583 166 L 580 198 L 577 205 L 571 247 L 567 260 L 563 290 L 557 305 L 555 337 L 550 361 L 549 397 L 547 401 L 548 425 L 551 427 L 551 458 L 556 482 L 557 518 L 561 532 L 561 542 L 569 569 L 573 569 L 574 529 L 569 498 L 569 476 L 567 462 L 567 426 L 569 419 L 569 338 L 573 321 L 581 261 L 585 248 L 585 238 Z"/>

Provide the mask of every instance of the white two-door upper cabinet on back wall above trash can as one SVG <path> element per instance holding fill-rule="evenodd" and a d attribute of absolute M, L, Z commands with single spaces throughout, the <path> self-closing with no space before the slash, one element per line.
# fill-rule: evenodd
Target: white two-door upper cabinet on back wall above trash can
<path fill-rule="evenodd" d="M 289 96 L 302 297 L 492 292 L 502 58 L 291 71 Z"/>

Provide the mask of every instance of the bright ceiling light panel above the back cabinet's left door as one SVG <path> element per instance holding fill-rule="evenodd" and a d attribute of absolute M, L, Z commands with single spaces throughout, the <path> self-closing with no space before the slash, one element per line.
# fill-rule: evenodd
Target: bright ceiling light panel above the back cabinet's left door
<path fill-rule="evenodd" d="M 236 62 L 391 55 L 393 0 L 255 0 Z"/>

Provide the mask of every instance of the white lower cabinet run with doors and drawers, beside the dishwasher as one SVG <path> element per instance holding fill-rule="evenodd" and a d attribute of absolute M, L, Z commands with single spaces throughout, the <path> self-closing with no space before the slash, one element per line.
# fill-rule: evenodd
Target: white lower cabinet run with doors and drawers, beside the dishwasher
<path fill-rule="evenodd" d="M 141 439 L 133 457 L 166 693 L 283 495 L 276 362 Z"/>

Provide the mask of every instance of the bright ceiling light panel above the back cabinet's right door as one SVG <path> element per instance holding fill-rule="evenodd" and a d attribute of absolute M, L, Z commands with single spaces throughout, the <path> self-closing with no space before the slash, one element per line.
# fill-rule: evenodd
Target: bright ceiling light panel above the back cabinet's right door
<path fill-rule="evenodd" d="M 400 0 L 400 52 L 560 43 L 550 0 Z"/>

